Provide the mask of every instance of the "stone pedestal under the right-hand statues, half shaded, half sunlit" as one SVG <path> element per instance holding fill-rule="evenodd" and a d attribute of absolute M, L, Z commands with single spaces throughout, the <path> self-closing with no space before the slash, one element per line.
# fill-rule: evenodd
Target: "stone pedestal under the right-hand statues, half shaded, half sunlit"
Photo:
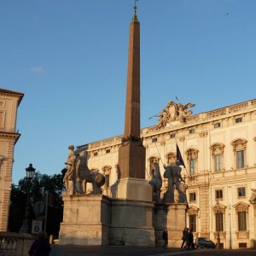
<path fill-rule="evenodd" d="M 186 227 L 185 203 L 165 203 L 154 206 L 155 246 L 164 245 L 163 231 L 168 230 L 168 247 L 181 247 Z"/>

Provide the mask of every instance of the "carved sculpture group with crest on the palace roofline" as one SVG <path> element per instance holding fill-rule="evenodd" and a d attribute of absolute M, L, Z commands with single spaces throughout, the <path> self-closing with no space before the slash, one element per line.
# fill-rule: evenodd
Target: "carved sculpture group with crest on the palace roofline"
<path fill-rule="evenodd" d="M 163 108 L 160 113 L 153 116 L 159 117 L 156 125 L 157 129 L 164 128 L 168 123 L 175 120 L 185 123 L 187 118 L 192 114 L 192 111 L 189 109 L 192 107 L 195 107 L 195 104 L 187 103 L 183 105 L 181 102 L 167 102 L 166 108 Z"/>

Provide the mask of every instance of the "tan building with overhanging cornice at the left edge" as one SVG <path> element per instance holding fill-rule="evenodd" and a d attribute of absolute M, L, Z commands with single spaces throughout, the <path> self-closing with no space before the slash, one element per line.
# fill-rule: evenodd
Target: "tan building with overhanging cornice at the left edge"
<path fill-rule="evenodd" d="M 8 230 L 9 201 L 15 143 L 20 137 L 16 129 L 17 109 L 24 95 L 0 89 L 0 231 Z"/>

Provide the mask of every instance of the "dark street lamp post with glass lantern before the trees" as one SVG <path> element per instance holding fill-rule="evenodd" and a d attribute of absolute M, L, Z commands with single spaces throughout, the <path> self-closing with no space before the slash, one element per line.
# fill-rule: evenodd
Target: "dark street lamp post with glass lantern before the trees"
<path fill-rule="evenodd" d="M 20 233 L 31 233 L 32 227 L 32 214 L 31 214 L 31 200 L 30 200 L 30 189 L 31 189 L 31 181 L 35 175 L 36 169 L 29 164 L 26 168 L 26 178 L 28 180 L 27 183 L 27 191 L 26 191 L 26 211 L 25 211 L 25 218 L 22 221 L 22 226 L 20 228 Z"/>

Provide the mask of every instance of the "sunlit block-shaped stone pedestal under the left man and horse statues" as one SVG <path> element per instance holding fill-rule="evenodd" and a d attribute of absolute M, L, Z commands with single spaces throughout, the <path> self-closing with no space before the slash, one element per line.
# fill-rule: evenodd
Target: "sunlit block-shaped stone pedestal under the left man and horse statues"
<path fill-rule="evenodd" d="M 104 195 L 63 195 L 60 244 L 108 245 L 109 199 Z"/>

